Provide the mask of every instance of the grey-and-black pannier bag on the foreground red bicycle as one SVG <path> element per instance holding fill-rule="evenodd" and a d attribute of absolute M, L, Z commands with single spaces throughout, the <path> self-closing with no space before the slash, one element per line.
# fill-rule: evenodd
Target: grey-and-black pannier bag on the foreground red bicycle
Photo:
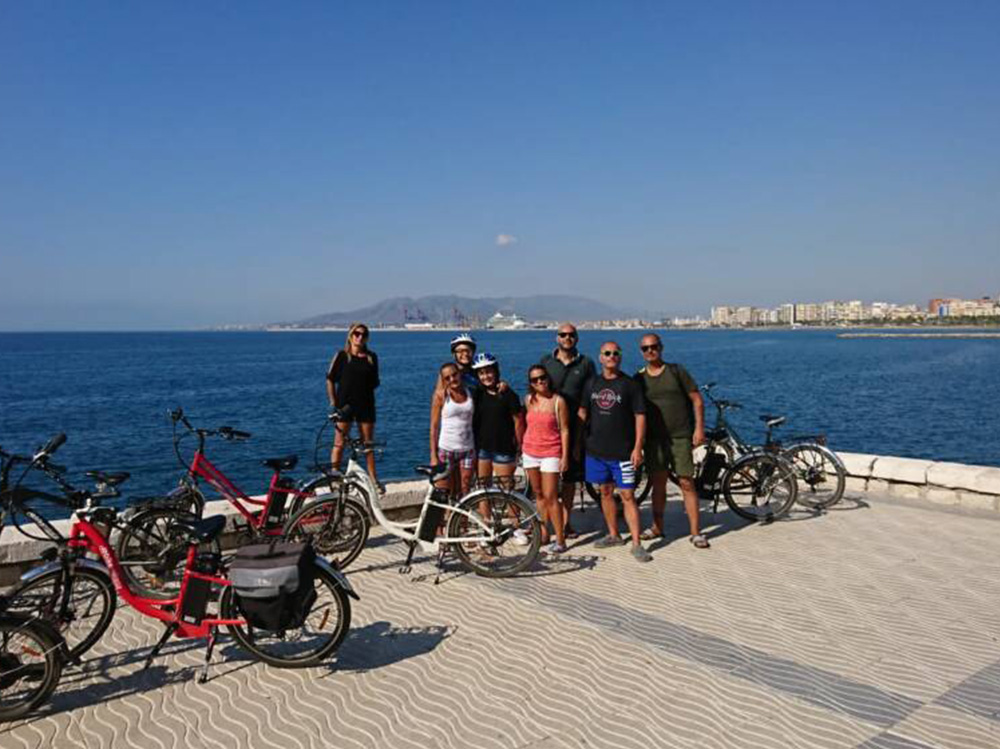
<path fill-rule="evenodd" d="M 316 602 L 312 544 L 280 542 L 243 546 L 229 565 L 229 581 L 247 623 L 280 632 L 302 626 Z"/>

